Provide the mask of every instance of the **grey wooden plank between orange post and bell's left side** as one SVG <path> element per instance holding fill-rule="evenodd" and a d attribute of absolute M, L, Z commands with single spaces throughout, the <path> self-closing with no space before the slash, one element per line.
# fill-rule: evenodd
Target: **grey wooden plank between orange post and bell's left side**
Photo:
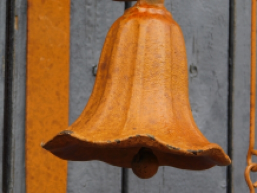
<path fill-rule="evenodd" d="M 105 36 L 123 13 L 123 2 L 71 1 L 70 106 L 72 124 L 87 103 L 94 85 L 92 67 L 98 63 Z M 120 192 L 121 168 L 102 162 L 69 162 L 68 192 Z"/>

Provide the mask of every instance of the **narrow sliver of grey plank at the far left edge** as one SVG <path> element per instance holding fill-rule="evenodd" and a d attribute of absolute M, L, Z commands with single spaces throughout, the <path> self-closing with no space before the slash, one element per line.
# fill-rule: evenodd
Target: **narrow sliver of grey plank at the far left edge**
<path fill-rule="evenodd" d="M 0 2 L 0 190 L 2 190 L 3 124 L 4 124 L 4 74 L 5 74 L 5 16 L 6 2 Z"/>

